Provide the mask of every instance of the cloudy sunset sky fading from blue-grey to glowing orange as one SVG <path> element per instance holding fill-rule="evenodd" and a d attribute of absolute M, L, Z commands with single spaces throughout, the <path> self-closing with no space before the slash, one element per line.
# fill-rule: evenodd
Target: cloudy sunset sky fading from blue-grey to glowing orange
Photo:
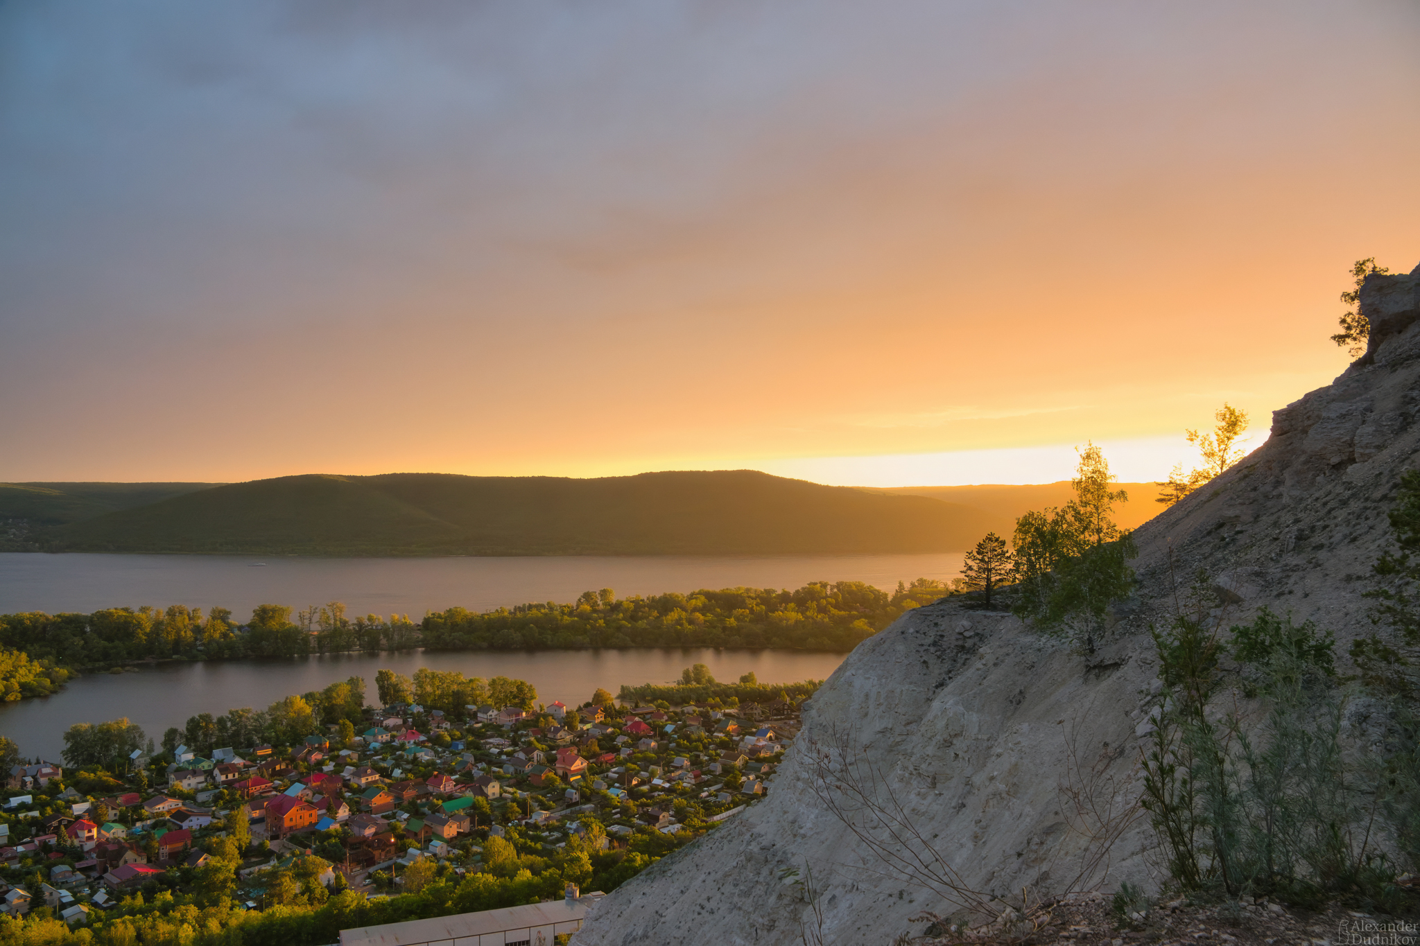
<path fill-rule="evenodd" d="M 9 0 L 0 479 L 1162 478 L 1417 101 L 1413 0 Z"/>

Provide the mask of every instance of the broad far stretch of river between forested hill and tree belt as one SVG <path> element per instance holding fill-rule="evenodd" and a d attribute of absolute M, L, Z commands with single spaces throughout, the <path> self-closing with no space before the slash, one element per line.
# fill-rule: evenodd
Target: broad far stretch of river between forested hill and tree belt
<path fill-rule="evenodd" d="M 809 581 L 953 579 L 960 552 L 845 556 L 527 556 L 305 559 L 206 555 L 0 553 L 0 614 L 105 607 L 220 606 L 244 620 L 257 604 L 344 601 L 348 614 L 470 611 L 575 601 L 582 591 L 619 597 L 726 589 L 797 589 Z"/>

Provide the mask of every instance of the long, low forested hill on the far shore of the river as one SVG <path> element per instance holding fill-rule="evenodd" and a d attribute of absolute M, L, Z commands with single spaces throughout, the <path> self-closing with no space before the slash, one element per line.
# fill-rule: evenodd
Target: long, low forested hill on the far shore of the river
<path fill-rule="evenodd" d="M 956 552 L 1000 516 L 738 469 L 636 477 L 302 475 L 57 526 L 55 552 L 794 555 Z"/>

